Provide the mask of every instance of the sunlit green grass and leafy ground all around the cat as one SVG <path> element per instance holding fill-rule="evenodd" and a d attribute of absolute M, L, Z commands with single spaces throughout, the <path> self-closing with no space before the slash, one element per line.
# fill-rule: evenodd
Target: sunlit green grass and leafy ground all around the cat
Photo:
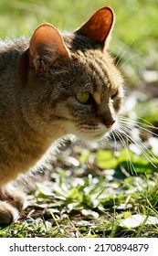
<path fill-rule="evenodd" d="M 130 89 L 124 115 L 146 120 L 141 121 L 140 138 L 145 151 L 158 159 L 157 130 L 145 126 L 146 122 L 158 126 L 158 94 L 154 90 L 158 84 L 154 79 L 158 68 L 157 4 L 156 0 L 16 0 L 7 4 L 0 0 L 0 35 L 31 35 L 44 20 L 62 30 L 73 30 L 100 6 L 111 5 L 116 24 L 110 51 Z M 139 132 L 138 127 L 131 129 L 134 134 Z M 47 166 L 54 171 L 45 182 L 36 182 L 28 192 L 28 208 L 16 223 L 0 229 L 0 237 L 157 237 L 157 161 L 148 152 L 152 165 L 132 144 L 129 148 L 127 153 L 119 141 L 118 148 L 112 142 L 72 142 L 67 149 L 61 148 L 57 161 Z"/>

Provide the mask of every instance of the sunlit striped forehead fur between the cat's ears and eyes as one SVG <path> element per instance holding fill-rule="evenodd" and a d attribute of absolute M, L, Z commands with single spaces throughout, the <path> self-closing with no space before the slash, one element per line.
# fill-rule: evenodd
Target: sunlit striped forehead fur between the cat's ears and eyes
<path fill-rule="evenodd" d="M 72 69 L 74 79 L 81 82 L 85 91 L 110 91 L 121 85 L 120 74 L 108 55 L 104 56 L 99 50 L 77 51 L 73 55 Z"/>

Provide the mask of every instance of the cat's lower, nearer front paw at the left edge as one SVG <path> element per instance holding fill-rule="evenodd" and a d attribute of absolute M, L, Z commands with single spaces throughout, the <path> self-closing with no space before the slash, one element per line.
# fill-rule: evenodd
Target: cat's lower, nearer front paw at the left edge
<path fill-rule="evenodd" d="M 10 225 L 18 218 L 18 210 L 5 201 L 0 201 L 0 225 Z"/>

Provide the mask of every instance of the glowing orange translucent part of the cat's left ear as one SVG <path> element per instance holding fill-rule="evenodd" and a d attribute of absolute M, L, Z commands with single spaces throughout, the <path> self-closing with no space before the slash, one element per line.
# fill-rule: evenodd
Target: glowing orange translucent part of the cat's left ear
<path fill-rule="evenodd" d="M 37 27 L 30 39 L 29 49 L 33 58 L 46 50 L 50 54 L 52 52 L 54 56 L 69 56 L 68 48 L 66 48 L 57 28 L 47 23 Z"/>

